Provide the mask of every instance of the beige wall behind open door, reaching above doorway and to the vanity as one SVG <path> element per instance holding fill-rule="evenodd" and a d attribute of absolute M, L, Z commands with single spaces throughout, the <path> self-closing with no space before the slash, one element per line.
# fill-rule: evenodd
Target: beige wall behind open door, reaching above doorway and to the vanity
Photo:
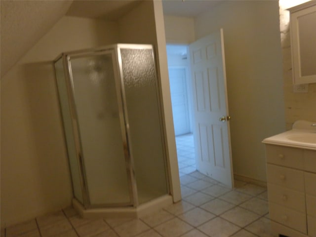
<path fill-rule="evenodd" d="M 195 19 L 196 39 L 224 29 L 234 173 L 266 181 L 261 141 L 285 130 L 277 1 L 226 1 Z"/>

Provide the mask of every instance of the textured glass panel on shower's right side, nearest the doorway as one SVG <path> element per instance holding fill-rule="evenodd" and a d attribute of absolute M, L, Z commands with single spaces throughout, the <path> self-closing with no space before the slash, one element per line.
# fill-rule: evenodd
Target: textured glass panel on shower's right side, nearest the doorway
<path fill-rule="evenodd" d="M 139 203 L 168 193 L 153 49 L 120 48 Z"/>

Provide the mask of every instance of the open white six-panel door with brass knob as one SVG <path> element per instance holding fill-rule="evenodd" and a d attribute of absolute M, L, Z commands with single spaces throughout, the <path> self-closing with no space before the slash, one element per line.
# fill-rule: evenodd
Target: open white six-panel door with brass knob
<path fill-rule="evenodd" d="M 223 30 L 190 44 L 197 169 L 234 187 Z"/>

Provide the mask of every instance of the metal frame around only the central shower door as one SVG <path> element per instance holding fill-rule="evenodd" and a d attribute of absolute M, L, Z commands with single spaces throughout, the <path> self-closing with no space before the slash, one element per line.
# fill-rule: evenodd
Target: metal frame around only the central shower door
<path fill-rule="evenodd" d="M 85 208 L 95 208 L 95 207 L 117 207 L 117 206 L 135 206 L 135 203 L 138 203 L 137 199 L 137 187 L 136 183 L 134 182 L 134 168 L 132 166 L 132 161 L 130 157 L 129 151 L 129 143 L 128 143 L 128 127 L 124 122 L 125 114 L 123 109 L 123 101 L 121 96 L 121 85 L 120 79 L 117 72 L 117 55 L 116 50 L 114 50 L 114 46 L 108 46 L 102 49 L 96 50 L 80 50 L 75 52 L 69 52 L 62 55 L 63 63 L 64 63 L 64 72 L 66 73 L 66 84 L 67 84 L 67 91 L 68 91 L 68 100 L 70 105 L 70 112 L 72 115 L 72 126 L 74 131 L 74 138 L 76 144 L 76 152 L 77 152 L 77 160 L 79 163 L 79 174 L 80 174 L 80 183 L 81 183 L 81 191 L 83 197 L 83 206 Z M 93 205 L 90 202 L 88 187 L 86 184 L 86 174 L 84 170 L 84 159 L 82 153 L 82 145 L 80 139 L 80 131 L 79 131 L 79 121 L 78 121 L 78 114 L 75 105 L 75 88 L 74 88 L 74 78 L 72 75 L 71 70 L 71 59 L 74 58 L 82 58 L 85 56 L 96 56 L 96 55 L 104 55 L 104 54 L 111 54 L 112 63 L 114 67 L 114 80 L 116 85 L 116 94 L 118 99 L 118 112 L 119 112 L 119 122 L 121 128 L 121 135 L 122 135 L 122 142 L 123 142 L 123 150 L 124 150 L 124 158 L 125 158 L 125 165 L 126 165 L 126 172 L 127 172 L 127 181 L 128 181 L 128 188 L 129 188 L 129 199 L 130 201 L 127 203 L 107 203 L 107 204 L 98 204 Z M 56 60 L 57 61 L 57 60 Z M 127 117 L 127 116 L 126 116 Z M 128 122 L 127 122 L 128 124 Z M 136 191 L 136 193 L 135 193 Z"/>

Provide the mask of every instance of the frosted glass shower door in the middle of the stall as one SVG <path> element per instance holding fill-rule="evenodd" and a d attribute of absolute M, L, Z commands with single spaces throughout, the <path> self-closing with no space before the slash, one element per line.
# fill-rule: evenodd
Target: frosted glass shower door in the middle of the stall
<path fill-rule="evenodd" d="M 114 51 L 73 55 L 69 60 L 91 206 L 131 204 L 113 61 Z"/>

